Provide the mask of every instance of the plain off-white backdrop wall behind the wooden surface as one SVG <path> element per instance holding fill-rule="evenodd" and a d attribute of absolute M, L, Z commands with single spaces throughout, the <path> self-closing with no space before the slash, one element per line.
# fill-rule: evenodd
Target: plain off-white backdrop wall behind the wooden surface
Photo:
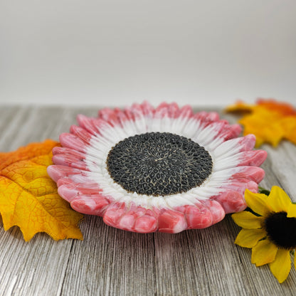
<path fill-rule="evenodd" d="M 296 105 L 296 1 L 1 0 L 0 102 Z"/>

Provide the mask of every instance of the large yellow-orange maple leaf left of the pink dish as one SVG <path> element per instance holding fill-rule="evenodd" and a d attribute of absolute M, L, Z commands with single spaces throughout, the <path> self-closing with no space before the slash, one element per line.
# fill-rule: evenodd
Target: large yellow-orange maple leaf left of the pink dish
<path fill-rule="evenodd" d="M 58 195 L 56 183 L 48 176 L 53 147 L 50 139 L 31 143 L 15 152 L 0 153 L 0 213 L 4 230 L 18 226 L 28 241 L 38 232 L 54 240 L 83 239 L 78 222 L 83 215 L 73 211 Z"/>

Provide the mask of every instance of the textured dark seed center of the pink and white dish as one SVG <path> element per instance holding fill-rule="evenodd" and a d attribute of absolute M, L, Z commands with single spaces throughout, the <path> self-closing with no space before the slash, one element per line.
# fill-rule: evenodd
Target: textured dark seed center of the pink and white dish
<path fill-rule="evenodd" d="M 211 155 L 199 144 L 169 132 L 128 137 L 112 147 L 107 169 L 129 192 L 166 196 L 200 186 L 211 174 Z"/>

